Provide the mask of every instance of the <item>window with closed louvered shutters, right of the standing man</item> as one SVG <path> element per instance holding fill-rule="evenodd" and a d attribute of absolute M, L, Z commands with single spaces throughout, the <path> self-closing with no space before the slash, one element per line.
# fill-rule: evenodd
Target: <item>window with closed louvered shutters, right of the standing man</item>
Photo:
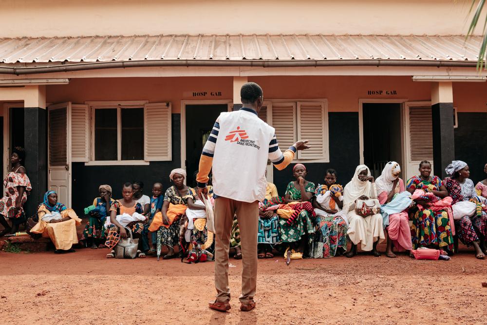
<path fill-rule="evenodd" d="M 296 159 L 328 162 L 328 107 L 326 99 L 264 102 L 259 117 L 276 129 L 281 150 L 298 140 L 309 140 L 311 148 L 298 152 Z"/>

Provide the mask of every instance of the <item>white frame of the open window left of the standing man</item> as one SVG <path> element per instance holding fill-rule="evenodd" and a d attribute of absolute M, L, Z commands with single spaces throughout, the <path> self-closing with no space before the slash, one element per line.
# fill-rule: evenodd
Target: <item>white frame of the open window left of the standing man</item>
<path fill-rule="evenodd" d="M 148 104 L 148 100 L 126 100 L 126 101 L 86 101 L 90 112 L 90 161 L 85 166 L 108 166 L 108 165 L 149 165 L 145 160 L 121 160 L 122 157 L 122 128 L 121 109 L 141 108 Z M 117 109 L 117 160 L 94 160 L 94 112 L 99 109 Z"/>

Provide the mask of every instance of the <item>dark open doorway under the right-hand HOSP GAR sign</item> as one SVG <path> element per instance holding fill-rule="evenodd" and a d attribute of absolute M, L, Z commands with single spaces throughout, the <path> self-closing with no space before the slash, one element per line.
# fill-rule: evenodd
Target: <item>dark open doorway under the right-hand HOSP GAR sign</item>
<path fill-rule="evenodd" d="M 377 178 L 389 161 L 402 166 L 401 104 L 364 103 L 364 164 Z"/>

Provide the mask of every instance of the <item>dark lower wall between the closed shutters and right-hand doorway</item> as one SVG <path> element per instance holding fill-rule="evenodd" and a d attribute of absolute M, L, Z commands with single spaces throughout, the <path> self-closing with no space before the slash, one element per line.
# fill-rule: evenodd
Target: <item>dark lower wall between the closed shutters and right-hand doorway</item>
<path fill-rule="evenodd" d="M 306 179 L 315 184 L 322 184 L 325 171 L 328 168 L 333 168 L 338 173 L 338 183 L 345 186 L 360 163 L 358 113 L 328 113 L 328 125 L 330 162 L 305 164 L 308 170 Z M 313 144 L 311 143 L 311 145 Z M 294 180 L 293 166 L 290 165 L 283 171 L 274 169 L 274 183 L 277 186 L 279 195 L 283 196 L 287 184 Z"/>

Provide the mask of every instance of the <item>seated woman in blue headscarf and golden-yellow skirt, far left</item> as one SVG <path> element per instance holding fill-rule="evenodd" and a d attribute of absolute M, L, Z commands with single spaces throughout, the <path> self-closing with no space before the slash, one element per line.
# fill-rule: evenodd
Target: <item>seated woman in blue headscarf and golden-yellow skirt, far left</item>
<path fill-rule="evenodd" d="M 39 221 L 31 232 L 51 238 L 56 247 L 56 254 L 75 251 L 72 247 L 78 243 L 76 226 L 81 224 L 81 219 L 73 209 L 67 209 L 64 204 L 57 202 L 55 191 L 47 191 L 44 194 L 44 202 L 39 205 L 37 215 Z"/>

